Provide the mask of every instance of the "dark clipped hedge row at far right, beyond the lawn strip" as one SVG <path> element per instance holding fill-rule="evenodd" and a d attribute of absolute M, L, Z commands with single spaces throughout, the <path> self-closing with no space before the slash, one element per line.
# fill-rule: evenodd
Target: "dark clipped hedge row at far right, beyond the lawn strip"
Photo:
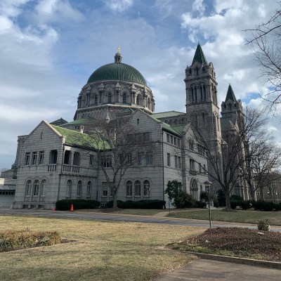
<path fill-rule="evenodd" d="M 254 208 L 259 211 L 281 211 L 281 203 L 276 204 L 273 202 L 263 201 L 263 200 L 230 200 L 230 206 L 232 209 L 236 207 L 241 207 L 244 210 Z"/>

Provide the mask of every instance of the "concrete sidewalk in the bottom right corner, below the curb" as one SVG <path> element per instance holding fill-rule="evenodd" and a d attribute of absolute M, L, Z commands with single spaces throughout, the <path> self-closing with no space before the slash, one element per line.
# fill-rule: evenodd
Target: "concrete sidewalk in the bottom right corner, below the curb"
<path fill-rule="evenodd" d="M 195 259 L 187 266 L 178 268 L 154 281 L 279 281 L 281 270 Z"/>

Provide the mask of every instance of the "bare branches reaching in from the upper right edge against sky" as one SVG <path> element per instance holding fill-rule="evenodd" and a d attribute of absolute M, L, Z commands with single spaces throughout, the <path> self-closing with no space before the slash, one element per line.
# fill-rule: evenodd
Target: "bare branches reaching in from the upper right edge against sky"
<path fill-rule="evenodd" d="M 281 6 L 281 1 L 278 2 Z M 268 106 L 276 110 L 281 103 L 281 8 L 277 9 L 271 18 L 257 25 L 254 29 L 244 30 L 251 32 L 251 38 L 247 39 L 254 51 L 256 60 L 261 66 L 261 77 L 269 84 L 269 92 L 262 97 L 268 102 Z"/>

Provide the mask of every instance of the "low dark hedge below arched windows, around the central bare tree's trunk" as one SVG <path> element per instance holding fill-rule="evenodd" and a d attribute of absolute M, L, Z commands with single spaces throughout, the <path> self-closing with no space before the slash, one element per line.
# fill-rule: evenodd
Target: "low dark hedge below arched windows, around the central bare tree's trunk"
<path fill-rule="evenodd" d="M 121 201 L 117 200 L 118 208 L 122 209 L 163 209 L 166 201 L 163 200 L 140 200 L 140 201 Z M 113 201 L 107 202 L 105 207 L 112 208 Z"/>

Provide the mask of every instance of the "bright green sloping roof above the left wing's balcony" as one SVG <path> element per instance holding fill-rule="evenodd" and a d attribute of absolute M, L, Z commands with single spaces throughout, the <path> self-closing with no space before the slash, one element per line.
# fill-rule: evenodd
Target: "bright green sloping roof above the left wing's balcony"
<path fill-rule="evenodd" d="M 65 129 L 61 126 L 52 125 L 52 127 L 55 131 L 58 131 L 58 133 L 65 137 L 65 143 L 68 145 L 75 145 L 83 148 L 98 148 L 98 145 L 96 145 L 93 138 L 86 133 L 79 133 L 77 131 Z"/>

